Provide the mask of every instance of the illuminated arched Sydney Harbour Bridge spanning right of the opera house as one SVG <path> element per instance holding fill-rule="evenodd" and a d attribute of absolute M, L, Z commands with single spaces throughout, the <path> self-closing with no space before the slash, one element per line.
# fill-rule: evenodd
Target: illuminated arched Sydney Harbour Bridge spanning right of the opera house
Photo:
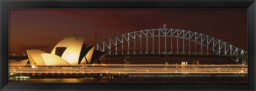
<path fill-rule="evenodd" d="M 222 57 L 245 65 L 247 51 L 205 35 L 179 29 L 129 32 L 96 44 L 108 56 L 202 56 Z"/>

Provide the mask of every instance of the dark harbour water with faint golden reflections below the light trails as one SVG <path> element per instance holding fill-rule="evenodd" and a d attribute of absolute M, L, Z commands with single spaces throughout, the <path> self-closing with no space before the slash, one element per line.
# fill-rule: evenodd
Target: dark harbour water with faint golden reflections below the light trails
<path fill-rule="evenodd" d="M 30 78 L 9 83 L 247 83 L 247 74 L 128 74 L 129 78 Z"/>

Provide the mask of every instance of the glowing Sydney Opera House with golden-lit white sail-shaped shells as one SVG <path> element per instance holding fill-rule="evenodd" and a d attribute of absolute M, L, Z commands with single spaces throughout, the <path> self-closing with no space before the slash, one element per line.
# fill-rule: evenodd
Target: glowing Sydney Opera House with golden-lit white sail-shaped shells
<path fill-rule="evenodd" d="M 27 55 L 29 59 L 15 61 L 9 59 L 9 67 L 31 66 L 82 66 L 83 64 L 102 63 L 107 52 L 94 50 L 95 46 L 86 47 L 84 38 L 76 39 L 76 35 L 71 35 L 61 40 L 52 50 L 46 53 L 42 50 L 29 49 Z"/>

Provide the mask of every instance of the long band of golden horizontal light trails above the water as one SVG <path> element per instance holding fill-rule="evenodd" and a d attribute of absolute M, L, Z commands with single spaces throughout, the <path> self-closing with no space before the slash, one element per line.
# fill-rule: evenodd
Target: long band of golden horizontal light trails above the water
<path fill-rule="evenodd" d="M 123 65 L 88 64 L 61 67 L 9 67 L 10 73 L 115 73 L 115 74 L 247 74 L 247 65 Z"/>

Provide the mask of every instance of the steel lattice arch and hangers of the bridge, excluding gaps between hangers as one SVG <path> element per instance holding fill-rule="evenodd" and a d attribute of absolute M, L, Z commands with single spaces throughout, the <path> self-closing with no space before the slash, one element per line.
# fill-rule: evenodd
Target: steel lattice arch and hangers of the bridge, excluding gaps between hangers
<path fill-rule="evenodd" d="M 166 50 L 166 37 L 171 38 L 171 50 Z M 148 43 L 149 38 L 151 41 L 153 41 L 151 44 Z M 158 39 L 158 51 L 154 51 L 154 38 L 157 41 Z M 164 38 L 164 43 L 161 43 L 161 38 Z M 172 38 L 177 38 L 177 43 L 172 43 Z M 142 39 L 146 39 L 146 50 L 142 51 Z M 181 41 L 179 41 L 181 39 Z M 138 43 L 139 40 L 139 48 L 140 50 L 135 50 L 137 46 L 135 46 L 136 43 Z M 189 50 L 185 51 L 184 46 L 184 40 L 189 41 Z M 190 41 L 195 43 L 195 47 L 190 48 Z M 134 44 L 134 48 L 130 48 L 130 43 Z M 179 51 L 179 42 L 183 42 L 183 46 L 181 46 L 181 51 Z M 124 52 L 124 44 L 127 44 L 127 52 Z M 161 48 L 160 44 L 164 44 L 164 48 Z M 173 46 L 176 44 L 177 50 L 173 50 Z M 196 47 L 199 44 L 199 48 Z M 152 47 L 151 52 L 148 50 L 148 46 Z M 209 35 L 205 35 L 202 33 L 197 33 L 193 31 L 187 31 L 187 30 L 179 30 L 179 29 L 149 29 L 149 30 L 140 30 L 140 31 L 134 31 L 129 32 L 126 34 L 121 34 L 116 37 L 107 39 L 105 41 L 102 41 L 98 44 L 96 44 L 97 50 L 99 51 L 108 51 L 110 56 L 113 55 L 138 55 L 138 54 L 165 54 L 165 55 L 203 55 L 203 56 L 223 56 L 223 57 L 229 57 L 230 59 L 236 61 L 238 63 L 239 60 L 241 60 L 242 65 L 246 63 L 247 60 L 247 51 L 244 51 L 242 49 L 239 49 L 237 47 L 232 46 L 231 44 L 221 41 L 219 39 L 210 37 Z M 121 47 L 121 50 L 117 50 L 118 47 Z M 182 48 L 183 47 L 183 48 Z M 202 47 L 206 47 L 207 51 L 203 51 Z M 164 51 L 161 51 L 161 49 L 164 49 Z M 114 51 L 111 52 L 111 50 Z M 190 50 L 195 50 L 194 52 L 191 52 Z M 197 51 L 198 50 L 198 51 Z M 120 52 L 121 51 L 121 52 Z M 131 52 L 133 51 L 133 52 Z M 212 52 L 209 52 L 212 51 Z"/>

